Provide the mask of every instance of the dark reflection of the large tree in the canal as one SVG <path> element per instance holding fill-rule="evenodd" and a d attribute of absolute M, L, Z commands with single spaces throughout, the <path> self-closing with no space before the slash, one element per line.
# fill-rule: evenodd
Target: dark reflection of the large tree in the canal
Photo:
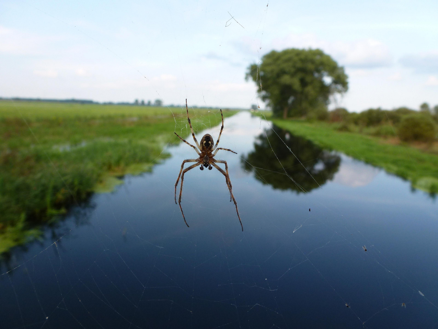
<path fill-rule="evenodd" d="M 332 180 L 340 162 L 339 155 L 276 126 L 258 136 L 254 151 L 242 159 L 244 168 L 253 171 L 264 184 L 297 193 L 309 192 Z"/>

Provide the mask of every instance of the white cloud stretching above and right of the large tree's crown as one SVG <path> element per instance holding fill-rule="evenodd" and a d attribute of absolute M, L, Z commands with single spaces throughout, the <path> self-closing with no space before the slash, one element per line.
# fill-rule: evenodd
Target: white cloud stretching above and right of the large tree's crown
<path fill-rule="evenodd" d="M 290 34 L 284 39 L 272 42 L 274 49 L 320 48 L 334 57 L 339 64 L 350 68 L 378 68 L 392 65 L 389 47 L 374 39 L 354 40 L 350 42 L 329 42 L 318 39 L 313 34 Z"/>

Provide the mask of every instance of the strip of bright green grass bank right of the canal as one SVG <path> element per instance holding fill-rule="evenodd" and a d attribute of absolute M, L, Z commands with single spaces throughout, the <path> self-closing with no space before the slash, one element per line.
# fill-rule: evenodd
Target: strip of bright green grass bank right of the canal
<path fill-rule="evenodd" d="M 339 132 L 325 122 L 274 119 L 272 122 L 321 147 L 341 151 L 350 157 L 384 168 L 410 180 L 412 186 L 438 193 L 438 155 L 409 145 L 391 145 L 384 139 L 357 132 Z"/>

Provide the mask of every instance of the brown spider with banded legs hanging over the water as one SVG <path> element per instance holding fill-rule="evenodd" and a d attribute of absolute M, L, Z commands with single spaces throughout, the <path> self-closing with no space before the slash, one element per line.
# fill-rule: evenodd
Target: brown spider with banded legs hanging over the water
<path fill-rule="evenodd" d="M 196 143 L 196 146 L 198 148 L 196 146 L 192 145 L 191 143 L 188 143 L 185 139 L 182 139 L 176 132 L 175 132 L 175 135 L 177 135 L 184 143 L 186 143 L 187 145 L 190 145 L 191 147 L 193 147 L 194 150 L 196 151 L 196 153 L 198 153 L 199 157 L 197 159 L 186 159 L 181 164 L 180 174 L 178 175 L 177 182 L 175 183 L 175 204 L 177 204 L 177 185 L 178 185 L 178 182 L 180 181 L 180 177 L 181 177 L 180 197 L 178 198 L 178 204 L 180 205 L 181 214 L 183 214 L 184 222 L 186 223 L 187 227 L 189 227 L 189 225 L 186 222 L 186 218 L 184 216 L 183 208 L 181 207 L 181 195 L 183 193 L 184 174 L 186 172 L 188 172 L 189 170 L 191 170 L 191 169 L 193 169 L 195 167 L 198 167 L 199 165 L 201 165 L 201 167 L 199 167 L 201 170 L 204 170 L 204 167 L 205 168 L 208 167 L 208 170 L 212 170 L 212 168 L 215 167 L 217 170 L 219 170 L 219 172 L 221 172 L 225 176 L 226 186 L 228 186 L 228 190 L 230 191 L 230 202 L 231 202 L 231 200 L 233 200 L 234 205 L 236 206 L 237 217 L 239 218 L 240 226 L 242 227 L 242 232 L 243 232 L 244 226 L 242 225 L 242 221 L 240 220 L 239 210 L 237 210 L 237 202 L 236 202 L 236 199 L 234 199 L 233 192 L 231 191 L 232 186 L 231 186 L 231 181 L 230 181 L 230 175 L 228 174 L 228 164 L 226 163 L 225 160 L 216 160 L 214 158 L 214 156 L 216 155 L 217 151 L 219 151 L 219 150 L 230 151 L 230 152 L 233 152 L 234 154 L 237 154 L 236 152 L 234 152 L 234 151 L 232 151 L 230 149 L 224 149 L 222 147 L 217 147 L 218 144 L 219 144 L 220 136 L 222 134 L 222 130 L 223 130 L 223 114 L 222 114 L 222 110 L 220 110 L 220 115 L 222 117 L 222 126 L 220 127 L 220 132 L 219 132 L 218 140 L 216 141 L 216 144 L 214 146 L 213 146 L 214 140 L 213 140 L 212 135 L 205 134 L 201 138 L 201 143 L 198 143 L 198 140 L 194 136 L 193 128 L 191 126 L 191 122 L 190 122 L 190 118 L 189 118 L 189 110 L 188 110 L 188 107 L 187 107 L 187 98 L 186 98 L 186 111 L 187 111 L 187 121 L 189 122 L 189 125 L 190 125 L 190 130 L 192 132 L 193 140 Z M 214 151 L 214 153 L 213 153 L 213 151 Z M 184 171 L 183 171 L 184 164 L 187 163 L 187 162 L 196 162 L 196 163 L 192 164 L 191 166 L 189 166 L 187 168 L 185 168 Z M 220 168 L 216 163 L 223 163 L 223 164 L 225 164 L 225 171 L 222 168 Z M 182 173 L 182 175 L 181 175 L 181 173 Z"/>

